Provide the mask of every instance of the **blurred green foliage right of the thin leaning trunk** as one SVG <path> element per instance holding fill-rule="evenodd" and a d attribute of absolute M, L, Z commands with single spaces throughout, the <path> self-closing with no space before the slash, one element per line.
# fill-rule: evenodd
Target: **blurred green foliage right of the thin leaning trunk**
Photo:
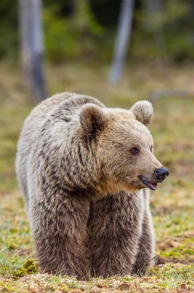
<path fill-rule="evenodd" d="M 194 60 L 194 22 L 191 17 L 194 4 L 188 0 L 167 0 L 164 3 L 163 9 L 160 10 L 136 10 L 131 56 L 140 60 Z M 144 45 L 139 46 L 140 43 Z"/>

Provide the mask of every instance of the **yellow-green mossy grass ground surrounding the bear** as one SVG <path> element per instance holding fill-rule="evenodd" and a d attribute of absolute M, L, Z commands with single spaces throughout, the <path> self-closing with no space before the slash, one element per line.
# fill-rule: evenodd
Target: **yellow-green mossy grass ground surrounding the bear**
<path fill-rule="evenodd" d="M 93 95 L 107 106 L 129 108 L 163 88 L 186 89 L 154 102 L 150 126 L 155 155 L 170 170 L 151 192 L 151 210 L 160 256 L 143 277 L 125 276 L 77 281 L 40 274 L 14 171 L 22 121 L 33 106 L 22 89 L 17 68 L 1 63 L 0 71 L 0 292 L 43 293 L 194 292 L 194 69 L 138 66 L 126 70 L 122 83 L 107 86 L 107 68 L 80 64 L 46 67 L 49 95 L 74 91 Z"/>

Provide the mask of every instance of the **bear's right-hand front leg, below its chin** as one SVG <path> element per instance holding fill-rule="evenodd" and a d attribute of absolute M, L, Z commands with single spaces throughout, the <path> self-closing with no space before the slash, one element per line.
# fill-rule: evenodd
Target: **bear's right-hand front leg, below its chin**
<path fill-rule="evenodd" d="M 126 275 L 132 270 L 141 233 L 143 194 L 120 191 L 93 203 L 89 220 L 90 276 Z"/>

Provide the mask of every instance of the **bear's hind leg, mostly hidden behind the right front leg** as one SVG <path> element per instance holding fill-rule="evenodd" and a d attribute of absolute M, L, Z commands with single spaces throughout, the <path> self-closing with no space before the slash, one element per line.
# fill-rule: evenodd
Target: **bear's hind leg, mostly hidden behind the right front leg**
<path fill-rule="evenodd" d="M 150 210 L 146 210 L 142 225 L 142 235 L 139 240 L 138 253 L 136 261 L 133 265 L 132 273 L 141 274 L 146 268 L 154 264 L 155 240 L 152 228 L 152 220 Z"/>

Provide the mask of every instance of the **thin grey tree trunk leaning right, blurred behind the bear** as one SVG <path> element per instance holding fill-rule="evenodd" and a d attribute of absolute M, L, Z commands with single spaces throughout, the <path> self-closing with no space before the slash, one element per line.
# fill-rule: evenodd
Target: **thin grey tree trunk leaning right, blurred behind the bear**
<path fill-rule="evenodd" d="M 116 84 L 123 70 L 131 35 L 133 9 L 134 0 L 122 0 L 109 84 Z"/>

